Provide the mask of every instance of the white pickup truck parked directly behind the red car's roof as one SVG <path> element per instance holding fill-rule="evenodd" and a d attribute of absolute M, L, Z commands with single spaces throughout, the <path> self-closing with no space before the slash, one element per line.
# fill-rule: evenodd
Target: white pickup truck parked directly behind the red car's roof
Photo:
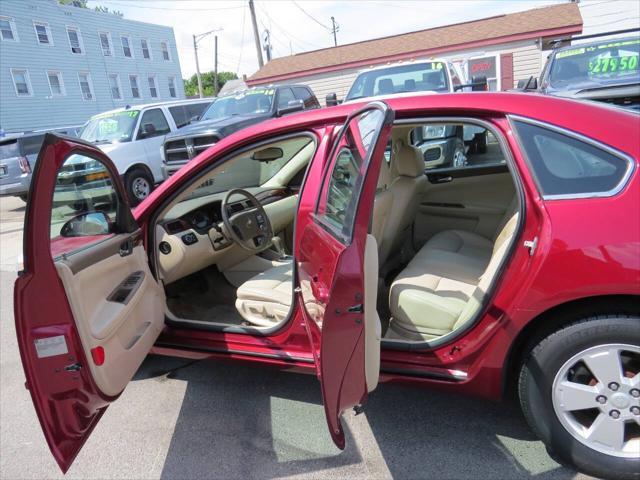
<path fill-rule="evenodd" d="M 424 93 L 453 93 L 457 91 L 487 90 L 487 79 L 477 76 L 467 82 L 458 64 L 445 59 L 432 59 L 396 65 L 384 65 L 363 70 L 351 85 L 344 103 L 361 102 L 363 99 L 386 99 L 393 96 Z M 335 93 L 326 98 L 327 106 L 340 102 Z M 435 135 L 437 133 L 437 135 Z M 432 128 L 428 132 L 416 132 L 415 142 L 420 143 L 424 154 L 425 168 L 435 166 L 464 165 L 469 149 L 473 153 L 487 151 L 484 129 L 466 126 L 442 130 Z"/>

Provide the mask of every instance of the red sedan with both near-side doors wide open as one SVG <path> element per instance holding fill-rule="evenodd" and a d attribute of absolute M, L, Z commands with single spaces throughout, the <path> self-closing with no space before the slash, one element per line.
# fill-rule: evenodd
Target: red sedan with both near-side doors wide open
<path fill-rule="evenodd" d="M 449 126 L 486 151 L 425 170 Z M 639 158 L 629 112 L 395 98 L 235 133 L 131 212 L 100 150 L 48 135 L 15 318 L 56 461 L 151 352 L 315 373 L 340 448 L 379 381 L 517 392 L 558 457 L 638 478 Z"/>

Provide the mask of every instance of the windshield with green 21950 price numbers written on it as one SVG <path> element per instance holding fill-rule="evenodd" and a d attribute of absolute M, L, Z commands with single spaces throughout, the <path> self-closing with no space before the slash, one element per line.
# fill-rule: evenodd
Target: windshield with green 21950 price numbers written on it
<path fill-rule="evenodd" d="M 640 39 L 576 46 L 556 53 L 549 83 L 558 90 L 640 83 Z"/>

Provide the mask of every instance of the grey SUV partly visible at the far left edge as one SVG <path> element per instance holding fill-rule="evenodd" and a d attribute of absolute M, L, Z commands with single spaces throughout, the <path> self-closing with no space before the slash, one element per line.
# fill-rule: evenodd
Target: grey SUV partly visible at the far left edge
<path fill-rule="evenodd" d="M 79 127 L 61 127 L 51 132 L 76 136 Z M 27 201 L 31 173 L 47 131 L 10 134 L 0 138 L 0 196 L 12 195 Z"/>

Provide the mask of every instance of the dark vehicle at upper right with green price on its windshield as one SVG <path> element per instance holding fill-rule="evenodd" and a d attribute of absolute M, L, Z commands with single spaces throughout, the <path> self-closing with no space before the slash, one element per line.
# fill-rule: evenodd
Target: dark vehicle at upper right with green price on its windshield
<path fill-rule="evenodd" d="M 611 33 L 575 37 L 602 37 Z M 538 87 L 531 78 L 522 90 L 593 100 L 640 111 L 640 37 L 598 40 L 556 48 L 549 55 Z"/>

